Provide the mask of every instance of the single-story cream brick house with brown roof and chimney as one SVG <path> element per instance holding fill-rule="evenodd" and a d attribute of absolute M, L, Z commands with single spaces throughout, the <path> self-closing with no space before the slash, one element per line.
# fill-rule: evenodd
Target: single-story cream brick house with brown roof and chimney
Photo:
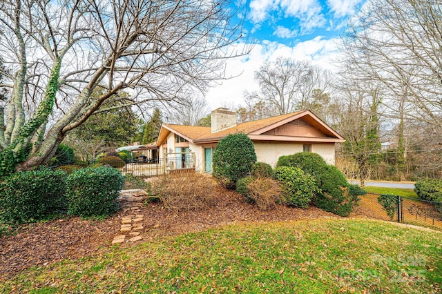
<path fill-rule="evenodd" d="M 211 112 L 210 127 L 163 124 L 156 146 L 169 170 L 195 168 L 211 173 L 216 145 L 233 133 L 247 134 L 258 161 L 272 167 L 280 156 L 302 151 L 318 153 L 334 164 L 335 144 L 345 141 L 309 110 L 237 124 L 236 112 L 218 108 Z"/>

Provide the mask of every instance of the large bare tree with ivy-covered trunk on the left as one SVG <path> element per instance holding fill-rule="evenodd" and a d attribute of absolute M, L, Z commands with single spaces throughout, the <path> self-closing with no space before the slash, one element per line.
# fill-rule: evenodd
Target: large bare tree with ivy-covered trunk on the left
<path fill-rule="evenodd" d="M 225 59 L 248 50 L 232 49 L 235 13 L 227 0 L 1 1 L 0 86 L 11 95 L 0 108 L 0 175 L 48 161 L 104 101 L 142 107 L 223 79 Z"/>

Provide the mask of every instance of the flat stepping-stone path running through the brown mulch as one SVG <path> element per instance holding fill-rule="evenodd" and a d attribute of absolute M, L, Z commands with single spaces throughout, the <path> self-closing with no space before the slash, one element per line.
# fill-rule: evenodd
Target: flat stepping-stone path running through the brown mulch
<path fill-rule="evenodd" d="M 144 231 L 144 215 L 140 214 L 144 197 L 148 194 L 144 190 L 122 190 L 119 199 L 122 204 L 122 226 L 120 234 L 113 238 L 112 244 L 123 242 L 136 242 L 142 238 L 141 232 Z"/>

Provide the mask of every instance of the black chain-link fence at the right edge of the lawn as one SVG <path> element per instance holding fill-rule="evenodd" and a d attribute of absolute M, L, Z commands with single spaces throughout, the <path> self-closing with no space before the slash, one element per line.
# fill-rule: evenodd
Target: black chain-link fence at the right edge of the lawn
<path fill-rule="evenodd" d="M 384 201 L 382 201 L 383 199 Z M 353 213 L 354 215 L 442 230 L 442 202 L 370 193 L 361 197 L 361 201 Z"/>

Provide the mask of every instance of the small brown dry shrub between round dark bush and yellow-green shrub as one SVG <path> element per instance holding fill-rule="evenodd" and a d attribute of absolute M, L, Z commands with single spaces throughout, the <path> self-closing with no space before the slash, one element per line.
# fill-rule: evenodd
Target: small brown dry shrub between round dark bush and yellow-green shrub
<path fill-rule="evenodd" d="M 248 185 L 248 197 L 256 203 L 261 210 L 276 208 L 277 204 L 284 203 L 282 188 L 278 181 L 266 177 L 253 179 Z"/>

